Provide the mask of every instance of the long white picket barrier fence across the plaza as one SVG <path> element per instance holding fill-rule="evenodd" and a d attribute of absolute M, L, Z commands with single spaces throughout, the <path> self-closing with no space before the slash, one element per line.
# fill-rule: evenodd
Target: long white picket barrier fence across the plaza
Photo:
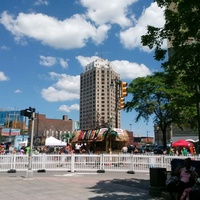
<path fill-rule="evenodd" d="M 112 171 L 112 172 L 149 172 L 149 168 L 166 168 L 171 171 L 171 160 L 185 156 L 146 155 L 146 154 L 39 154 L 29 158 L 28 155 L 0 155 L 0 172 L 26 171 L 31 159 L 33 171 Z M 200 160 L 199 156 L 192 156 Z"/>

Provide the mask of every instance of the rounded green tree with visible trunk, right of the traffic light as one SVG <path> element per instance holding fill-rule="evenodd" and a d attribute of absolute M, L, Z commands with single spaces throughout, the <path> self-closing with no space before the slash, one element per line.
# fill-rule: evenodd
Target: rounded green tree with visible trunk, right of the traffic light
<path fill-rule="evenodd" d="M 152 76 L 136 78 L 128 86 L 132 100 L 127 101 L 125 110 L 133 109 L 138 113 L 135 121 L 141 118 L 148 121 L 153 116 L 155 125 L 163 133 L 163 145 L 166 147 L 167 129 L 173 123 L 183 124 L 191 120 L 194 107 L 189 104 L 186 86 L 180 80 L 171 79 L 165 72 L 156 72 Z"/>

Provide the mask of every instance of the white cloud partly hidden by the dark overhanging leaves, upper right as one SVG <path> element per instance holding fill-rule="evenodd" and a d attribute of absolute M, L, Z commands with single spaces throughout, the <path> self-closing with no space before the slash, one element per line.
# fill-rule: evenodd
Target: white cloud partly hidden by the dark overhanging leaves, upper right
<path fill-rule="evenodd" d="M 120 32 L 119 37 L 121 43 L 125 48 L 140 48 L 148 52 L 150 49 L 148 47 L 143 47 L 141 44 L 141 36 L 147 33 L 147 25 L 163 27 L 164 23 L 164 9 L 159 8 L 157 3 L 152 3 L 150 7 L 144 10 L 135 26 Z M 167 47 L 166 43 L 164 47 Z"/>

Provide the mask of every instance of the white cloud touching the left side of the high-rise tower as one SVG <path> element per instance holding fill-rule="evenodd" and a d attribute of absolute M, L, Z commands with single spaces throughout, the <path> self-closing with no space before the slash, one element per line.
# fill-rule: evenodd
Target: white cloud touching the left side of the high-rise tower
<path fill-rule="evenodd" d="M 50 102 L 69 101 L 80 98 L 80 76 L 50 73 L 55 84 L 41 91 L 42 97 Z"/>

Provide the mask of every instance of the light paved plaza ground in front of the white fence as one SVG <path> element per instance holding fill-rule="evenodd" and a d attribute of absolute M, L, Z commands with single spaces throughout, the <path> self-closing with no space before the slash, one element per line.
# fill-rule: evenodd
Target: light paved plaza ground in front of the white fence
<path fill-rule="evenodd" d="M 0 195 L 6 200 L 164 200 L 149 197 L 149 174 L 95 172 L 0 172 Z"/>

